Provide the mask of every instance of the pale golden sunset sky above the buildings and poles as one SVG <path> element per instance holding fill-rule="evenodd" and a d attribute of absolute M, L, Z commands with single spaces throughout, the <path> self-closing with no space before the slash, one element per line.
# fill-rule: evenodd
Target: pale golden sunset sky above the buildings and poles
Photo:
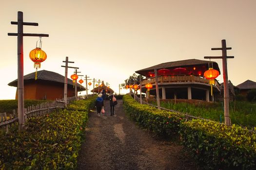
<path fill-rule="evenodd" d="M 256 82 L 256 0 L 4 0 L 0 5 L 0 100 L 15 99 L 17 79 L 18 11 L 24 33 L 49 34 L 42 37 L 47 59 L 39 70 L 64 76 L 61 66 L 69 57 L 80 75 L 108 82 L 118 93 L 135 71 L 165 62 L 221 56 L 226 39 L 228 78 L 233 85 Z M 23 37 L 24 75 L 35 71 L 29 52 L 39 37 Z M 222 60 L 212 59 L 221 70 Z M 74 69 L 68 69 L 68 77 Z M 80 77 L 79 77 L 80 79 Z M 90 90 L 92 87 L 90 87 Z M 121 90 L 121 93 L 127 93 Z"/>

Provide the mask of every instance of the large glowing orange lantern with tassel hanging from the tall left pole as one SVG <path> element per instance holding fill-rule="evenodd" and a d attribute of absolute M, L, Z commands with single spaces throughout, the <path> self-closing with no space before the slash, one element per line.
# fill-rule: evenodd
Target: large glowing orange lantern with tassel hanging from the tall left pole
<path fill-rule="evenodd" d="M 37 47 L 34 50 L 30 51 L 29 58 L 34 62 L 34 68 L 36 68 L 35 80 L 37 80 L 37 71 L 41 66 L 41 62 L 46 60 L 47 55 L 41 48 Z"/>

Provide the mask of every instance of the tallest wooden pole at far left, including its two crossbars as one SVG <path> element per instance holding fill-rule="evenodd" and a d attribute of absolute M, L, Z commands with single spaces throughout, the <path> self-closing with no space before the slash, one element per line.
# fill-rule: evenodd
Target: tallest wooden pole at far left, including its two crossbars
<path fill-rule="evenodd" d="M 23 33 L 23 25 L 38 26 L 35 22 L 23 22 L 23 12 L 18 11 L 18 21 L 11 21 L 11 24 L 18 25 L 18 33 L 8 33 L 9 36 L 17 36 L 17 51 L 18 51 L 18 117 L 19 130 L 24 129 L 25 115 L 24 115 L 24 77 L 23 77 L 23 36 L 46 36 L 49 34 L 27 34 Z"/>

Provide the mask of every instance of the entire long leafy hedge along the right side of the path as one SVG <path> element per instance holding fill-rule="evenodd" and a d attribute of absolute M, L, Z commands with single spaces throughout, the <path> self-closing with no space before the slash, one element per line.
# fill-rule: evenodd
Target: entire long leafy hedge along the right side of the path
<path fill-rule="evenodd" d="M 214 121 L 182 117 L 123 97 L 126 113 L 144 128 L 160 135 L 179 134 L 184 148 L 205 170 L 256 170 L 256 128 L 225 126 Z M 168 123 L 167 123 L 168 122 Z"/>

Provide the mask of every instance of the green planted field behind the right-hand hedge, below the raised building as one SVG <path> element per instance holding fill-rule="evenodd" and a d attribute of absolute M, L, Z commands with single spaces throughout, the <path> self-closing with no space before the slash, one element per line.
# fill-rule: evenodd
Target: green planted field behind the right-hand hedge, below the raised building
<path fill-rule="evenodd" d="M 154 100 L 149 101 L 157 105 Z M 176 110 L 192 116 L 224 122 L 223 102 L 174 102 L 174 100 L 161 101 L 160 106 L 166 109 Z M 233 124 L 252 128 L 256 126 L 256 103 L 236 101 L 229 103 L 229 114 Z"/>

